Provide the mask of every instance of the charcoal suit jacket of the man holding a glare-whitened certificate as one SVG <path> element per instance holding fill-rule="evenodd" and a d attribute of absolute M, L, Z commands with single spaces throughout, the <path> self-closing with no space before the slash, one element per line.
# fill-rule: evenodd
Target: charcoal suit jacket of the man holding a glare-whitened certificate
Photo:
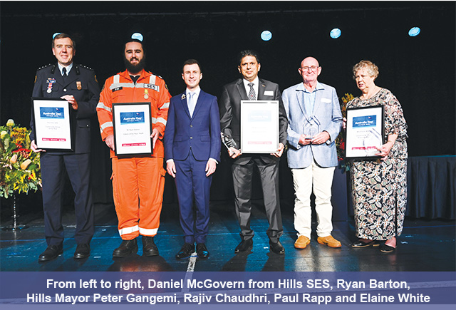
<path fill-rule="evenodd" d="M 220 98 L 220 110 L 222 112 L 220 127 L 224 135 L 229 135 L 234 139 L 237 148 L 241 147 L 241 100 L 249 100 L 242 78 L 223 87 L 222 98 Z M 258 100 L 279 100 L 279 143 L 286 145 L 288 120 L 286 119 L 279 85 L 259 78 Z M 259 156 L 266 163 L 280 160 L 280 158 L 269 154 L 259 154 Z M 234 162 L 237 165 L 246 165 L 251 158 L 252 154 L 242 154 L 234 159 Z"/>

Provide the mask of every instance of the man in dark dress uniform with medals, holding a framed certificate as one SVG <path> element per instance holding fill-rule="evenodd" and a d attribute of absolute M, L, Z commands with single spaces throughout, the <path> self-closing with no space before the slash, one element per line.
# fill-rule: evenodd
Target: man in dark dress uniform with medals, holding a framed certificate
<path fill-rule="evenodd" d="M 33 120 L 30 139 L 31 149 L 41 153 L 41 178 L 43 180 L 44 232 L 48 247 L 38 261 L 46 262 L 63 253 L 62 195 L 67 172 L 76 194 L 75 239 L 78 244 L 75 259 L 90 255 L 93 237 L 93 203 L 90 189 L 90 118 L 96 113 L 100 86 L 92 69 L 73 63 L 76 53 L 74 41 L 66 33 L 59 33 L 52 41 L 52 52 L 57 63 L 36 71 L 33 97 L 61 98 L 71 105 L 70 117 L 75 139 L 72 152 L 38 149 Z"/>

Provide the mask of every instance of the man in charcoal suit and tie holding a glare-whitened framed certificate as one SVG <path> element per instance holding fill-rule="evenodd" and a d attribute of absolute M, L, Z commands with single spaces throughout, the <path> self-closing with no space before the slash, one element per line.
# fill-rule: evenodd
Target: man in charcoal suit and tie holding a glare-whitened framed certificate
<path fill-rule="evenodd" d="M 235 253 L 247 251 L 253 245 L 254 231 L 250 227 L 252 211 L 252 175 L 257 167 L 261 176 L 264 207 L 269 228 L 269 248 L 276 254 L 284 254 L 284 247 L 279 238 L 283 233 L 279 200 L 279 160 L 286 143 L 286 112 L 281 100 L 279 86 L 276 83 L 258 78 L 259 57 L 254 51 L 242 51 L 239 54 L 238 70 L 243 78 L 224 86 L 220 100 L 220 127 L 224 138 L 234 141 L 229 147 L 232 160 L 234 183 L 234 205 L 241 227 L 242 241 L 234 249 Z M 248 95 L 247 95 L 248 94 Z M 271 154 L 242 154 L 238 150 L 241 135 L 240 108 L 241 100 L 278 100 L 279 101 L 279 148 Z"/>

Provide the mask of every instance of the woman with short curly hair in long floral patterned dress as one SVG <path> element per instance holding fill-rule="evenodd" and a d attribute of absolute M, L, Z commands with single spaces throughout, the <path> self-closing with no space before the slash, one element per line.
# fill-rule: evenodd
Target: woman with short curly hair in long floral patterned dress
<path fill-rule="evenodd" d="M 357 242 L 354 248 L 378 247 L 393 252 L 396 236 L 403 230 L 407 199 L 407 123 L 397 98 L 375 85 L 378 67 L 371 61 L 353 66 L 353 78 L 361 95 L 347 108 L 383 105 L 385 113 L 385 144 L 378 147 L 380 160 L 353 160 L 351 180 Z"/>

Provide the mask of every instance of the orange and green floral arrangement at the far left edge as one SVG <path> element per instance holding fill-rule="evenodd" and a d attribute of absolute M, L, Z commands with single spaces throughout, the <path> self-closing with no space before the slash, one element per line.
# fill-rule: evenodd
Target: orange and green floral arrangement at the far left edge
<path fill-rule="evenodd" d="M 30 150 L 29 135 L 11 119 L 0 126 L 0 197 L 41 188 L 40 155 Z"/>

